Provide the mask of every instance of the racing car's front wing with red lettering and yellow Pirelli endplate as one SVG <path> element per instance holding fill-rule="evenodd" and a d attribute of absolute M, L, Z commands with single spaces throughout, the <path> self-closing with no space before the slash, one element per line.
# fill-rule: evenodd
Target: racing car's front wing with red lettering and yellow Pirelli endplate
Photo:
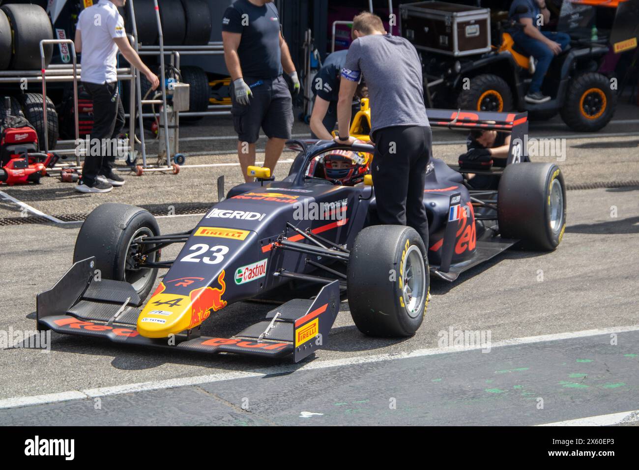
<path fill-rule="evenodd" d="M 326 347 L 339 311 L 339 282 L 313 299 L 293 299 L 273 309 L 263 322 L 231 338 L 199 336 L 199 328 L 169 338 L 146 338 L 135 325 L 141 299 L 128 283 L 93 279 L 93 258 L 75 263 L 56 285 L 38 294 L 38 329 L 103 338 L 114 343 L 194 352 L 233 352 L 301 361 Z"/>

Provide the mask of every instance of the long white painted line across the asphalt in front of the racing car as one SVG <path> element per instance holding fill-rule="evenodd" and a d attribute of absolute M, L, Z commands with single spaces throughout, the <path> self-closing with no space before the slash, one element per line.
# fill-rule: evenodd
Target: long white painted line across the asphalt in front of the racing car
<path fill-rule="evenodd" d="M 513 338 L 511 340 L 496 341 L 491 343 L 491 348 L 523 345 L 531 343 L 543 343 L 544 341 L 561 341 L 573 338 L 587 338 L 589 336 L 599 336 L 610 333 L 626 333 L 629 331 L 639 331 L 639 325 L 629 325 L 622 327 L 611 327 L 603 329 L 592 329 L 585 331 L 571 331 L 568 333 L 543 334 L 541 336 L 528 336 L 525 338 Z M 344 359 L 316 360 L 298 367 L 295 364 L 276 365 L 250 371 L 220 372 L 208 375 L 196 375 L 194 377 L 183 377 L 181 379 L 153 380 L 151 382 L 140 382 L 137 384 L 124 384 L 112 387 L 100 387 L 83 390 L 69 390 L 60 393 L 49 393 L 47 395 L 14 396 L 0 400 L 0 409 L 25 407 L 31 405 L 42 405 L 45 403 L 67 402 L 70 400 L 82 400 L 86 398 L 97 398 L 101 396 L 121 395 L 123 393 L 136 393 L 142 391 L 161 390 L 178 388 L 184 386 L 210 384 L 222 380 L 245 379 L 248 377 L 264 377 L 278 373 L 302 372 L 305 370 L 319 370 L 329 367 L 351 366 L 354 364 L 380 363 L 384 361 L 395 361 L 397 359 L 408 359 L 410 357 L 433 356 L 436 354 L 446 354 L 451 352 L 461 352 L 469 350 L 484 349 L 483 345 L 469 347 L 444 347 L 433 349 L 417 349 L 408 352 L 394 352 L 387 354 L 375 354 L 372 356 L 354 356 Z M 627 414 L 632 412 L 626 412 Z M 606 415 L 609 416 L 609 415 Z M 610 415 L 612 416 L 612 415 Z M 594 419 L 594 418 L 584 418 Z M 576 420 L 579 421 L 579 420 Z M 568 421 L 566 421 L 568 422 Z"/>

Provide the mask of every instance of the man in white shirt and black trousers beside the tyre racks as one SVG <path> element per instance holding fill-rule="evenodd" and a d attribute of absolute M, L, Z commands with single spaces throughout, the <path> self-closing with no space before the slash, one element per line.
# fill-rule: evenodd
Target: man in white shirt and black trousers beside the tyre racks
<path fill-rule="evenodd" d="M 153 90 L 160 84 L 128 42 L 124 20 L 116 8 L 125 3 L 127 0 L 100 0 L 82 10 L 78 17 L 74 42 L 75 51 L 82 52 L 82 85 L 93 99 L 91 139 L 100 139 L 102 144 L 100 155 L 88 152 L 84 159 L 82 178 L 75 188 L 80 192 L 109 192 L 113 186 L 124 184 L 123 178 L 113 171 L 115 155 L 106 155 L 111 153 L 107 149 L 112 145 L 105 140 L 116 139 L 125 124 L 116 74 L 118 49 L 133 67 L 146 75 Z"/>

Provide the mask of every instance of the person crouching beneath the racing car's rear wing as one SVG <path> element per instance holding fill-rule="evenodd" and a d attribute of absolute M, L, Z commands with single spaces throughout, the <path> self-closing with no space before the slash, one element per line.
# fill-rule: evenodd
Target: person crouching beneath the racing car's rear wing
<path fill-rule="evenodd" d="M 466 138 L 466 150 L 463 155 L 459 155 L 461 169 L 464 169 L 464 162 L 475 163 L 487 162 L 486 168 L 498 166 L 504 168 L 508 160 L 508 152 L 511 148 L 511 134 L 508 132 L 498 132 L 489 129 L 473 129 Z M 492 164 L 489 162 L 492 161 Z M 473 165 L 477 168 L 477 165 Z M 473 189 L 497 189 L 499 180 L 495 176 L 475 175 L 467 173 L 466 179 Z"/>

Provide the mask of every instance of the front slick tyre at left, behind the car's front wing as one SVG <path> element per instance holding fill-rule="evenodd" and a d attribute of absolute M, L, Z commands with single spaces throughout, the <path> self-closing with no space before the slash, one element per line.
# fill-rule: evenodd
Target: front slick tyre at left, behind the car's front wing
<path fill-rule="evenodd" d="M 107 203 L 93 209 L 75 240 L 73 262 L 95 256 L 95 269 L 102 279 L 127 281 L 144 300 L 151 292 L 157 268 L 137 268 L 142 249 L 153 245 L 136 244 L 142 237 L 159 235 L 155 217 L 150 212 L 127 204 Z M 157 262 L 155 251 L 148 261 Z"/>

